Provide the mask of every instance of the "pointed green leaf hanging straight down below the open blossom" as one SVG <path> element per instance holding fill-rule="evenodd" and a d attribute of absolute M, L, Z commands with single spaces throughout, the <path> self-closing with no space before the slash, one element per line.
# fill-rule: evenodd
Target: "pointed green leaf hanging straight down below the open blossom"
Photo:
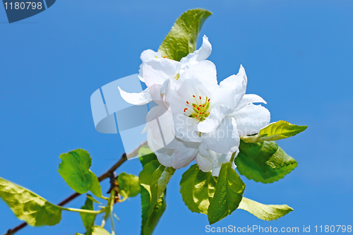
<path fill-rule="evenodd" d="M 208 207 L 208 222 L 214 224 L 232 214 L 241 202 L 244 189 L 245 183 L 232 169 L 232 163 L 223 163 L 217 179 L 215 195 Z"/>

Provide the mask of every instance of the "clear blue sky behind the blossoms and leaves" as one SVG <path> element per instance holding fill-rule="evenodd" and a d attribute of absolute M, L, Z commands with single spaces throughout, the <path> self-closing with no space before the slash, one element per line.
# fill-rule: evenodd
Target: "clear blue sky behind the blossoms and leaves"
<path fill-rule="evenodd" d="M 0 176 L 52 203 L 73 191 L 57 169 L 59 155 L 88 150 L 92 171 L 108 169 L 124 152 L 119 135 L 95 131 L 92 92 L 138 72 L 140 53 L 157 50 L 174 21 L 190 8 L 213 12 L 201 35 L 213 45 L 218 80 L 237 73 L 248 93 L 261 95 L 271 121 L 309 128 L 278 144 L 298 167 L 271 184 L 246 183 L 244 195 L 294 212 L 264 222 L 236 210 L 215 224 L 225 227 L 352 225 L 352 1 L 67 1 L 37 16 L 7 23 L 0 7 Z M 198 47 L 201 44 L 199 37 Z M 117 173 L 138 174 L 140 162 Z M 181 169 L 167 189 L 167 210 L 155 234 L 207 234 L 205 215 L 192 213 L 179 193 Z M 102 183 L 103 191 L 109 183 Z M 69 207 L 80 207 L 81 196 Z M 0 202 L 0 233 L 20 223 Z M 139 234 L 140 198 L 116 205 L 117 234 Z M 71 215 L 72 214 L 72 215 Z M 63 212 L 54 227 L 26 227 L 18 234 L 83 233 L 76 213 Z"/>

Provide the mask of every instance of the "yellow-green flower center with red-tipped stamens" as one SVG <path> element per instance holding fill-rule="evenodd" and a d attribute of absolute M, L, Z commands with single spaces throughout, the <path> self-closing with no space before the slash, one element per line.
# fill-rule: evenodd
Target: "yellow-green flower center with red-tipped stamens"
<path fill-rule="evenodd" d="M 199 121 L 204 121 L 210 112 L 208 112 L 208 108 L 210 107 L 210 100 L 208 97 L 201 97 L 201 95 L 196 98 L 193 95 L 194 103 L 186 101 L 187 107 L 184 109 L 184 114 L 186 116 L 192 117 L 194 119 L 198 119 Z"/>

